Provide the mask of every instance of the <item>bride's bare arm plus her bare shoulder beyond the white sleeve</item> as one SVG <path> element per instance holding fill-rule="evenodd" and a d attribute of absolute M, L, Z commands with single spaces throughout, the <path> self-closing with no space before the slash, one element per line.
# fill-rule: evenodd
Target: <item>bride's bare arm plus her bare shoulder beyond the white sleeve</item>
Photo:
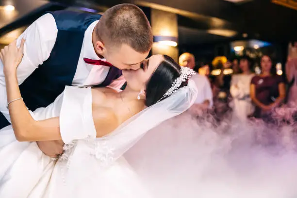
<path fill-rule="evenodd" d="M 24 40 L 18 49 L 16 41 L 1 50 L 0 58 L 4 65 L 7 100 L 11 123 L 18 141 L 62 140 L 59 117 L 36 121 L 30 115 L 21 94 L 16 78 L 16 68 L 22 59 Z M 104 108 L 93 107 L 93 119 L 97 137 L 112 132 L 118 122 L 115 114 Z"/>

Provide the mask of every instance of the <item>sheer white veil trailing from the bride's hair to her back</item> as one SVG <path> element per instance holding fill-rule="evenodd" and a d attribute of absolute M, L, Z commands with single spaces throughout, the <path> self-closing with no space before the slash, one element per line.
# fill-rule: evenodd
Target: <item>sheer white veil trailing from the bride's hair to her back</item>
<path fill-rule="evenodd" d="M 104 138 L 99 138 L 98 141 L 106 141 L 106 144 L 114 149 L 113 160 L 116 160 L 150 129 L 187 110 L 192 106 L 196 97 L 197 87 L 192 80 L 189 80 L 187 86 L 180 88 L 167 99 L 134 115 L 116 129 L 115 132 L 110 133 Z"/>

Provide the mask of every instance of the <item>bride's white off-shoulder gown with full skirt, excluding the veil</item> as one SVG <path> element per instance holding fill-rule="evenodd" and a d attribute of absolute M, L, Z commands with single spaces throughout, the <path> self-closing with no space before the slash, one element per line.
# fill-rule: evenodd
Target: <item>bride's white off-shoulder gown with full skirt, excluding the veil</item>
<path fill-rule="evenodd" d="M 106 138 L 96 139 L 91 88 L 66 87 L 35 120 L 60 116 L 66 143 L 58 160 L 35 142 L 16 141 L 11 126 L 0 130 L 0 198 L 146 198 L 148 194 L 126 160 L 113 163 Z"/>

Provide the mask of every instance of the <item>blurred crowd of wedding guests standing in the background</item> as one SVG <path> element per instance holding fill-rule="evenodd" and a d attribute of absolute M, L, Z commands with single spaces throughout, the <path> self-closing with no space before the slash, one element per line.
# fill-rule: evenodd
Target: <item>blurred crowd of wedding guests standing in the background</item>
<path fill-rule="evenodd" d="M 285 74 L 280 75 L 271 56 L 263 54 L 259 60 L 247 55 L 233 59 L 216 57 L 212 63 L 201 63 L 193 54 L 179 57 L 181 66 L 195 69 L 192 77 L 199 88 L 192 110 L 203 116 L 212 114 L 216 120 L 230 118 L 246 122 L 262 119 L 275 122 L 276 110 L 290 109 L 281 119 L 294 118 L 297 105 L 297 42 L 289 45 Z M 257 63 L 258 61 L 258 63 Z M 255 72 L 255 66 L 260 71 Z M 292 114 L 293 112 L 293 114 Z"/>

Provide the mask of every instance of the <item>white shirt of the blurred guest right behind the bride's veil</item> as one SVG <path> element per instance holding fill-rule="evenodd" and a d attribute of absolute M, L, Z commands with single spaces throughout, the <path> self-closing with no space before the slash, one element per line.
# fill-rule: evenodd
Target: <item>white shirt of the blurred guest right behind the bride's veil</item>
<path fill-rule="evenodd" d="M 205 100 L 209 100 L 209 108 L 211 108 L 213 106 L 213 92 L 209 80 L 198 73 L 193 75 L 191 80 L 195 82 L 198 88 L 198 94 L 194 104 L 201 104 Z"/>

